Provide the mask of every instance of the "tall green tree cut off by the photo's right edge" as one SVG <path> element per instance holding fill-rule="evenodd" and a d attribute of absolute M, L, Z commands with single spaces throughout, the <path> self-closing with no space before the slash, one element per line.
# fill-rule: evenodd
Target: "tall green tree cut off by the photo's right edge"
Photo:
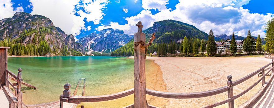
<path fill-rule="evenodd" d="M 269 20 L 266 25 L 266 51 L 274 53 L 274 18 Z"/>

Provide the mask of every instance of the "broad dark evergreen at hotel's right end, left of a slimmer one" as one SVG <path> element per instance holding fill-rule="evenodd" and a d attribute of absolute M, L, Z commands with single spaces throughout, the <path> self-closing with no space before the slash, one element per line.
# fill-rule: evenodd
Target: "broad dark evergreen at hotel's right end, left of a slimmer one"
<path fill-rule="evenodd" d="M 244 39 L 243 49 L 248 54 L 256 51 L 254 38 L 251 36 L 250 30 L 248 30 L 247 37 Z"/>

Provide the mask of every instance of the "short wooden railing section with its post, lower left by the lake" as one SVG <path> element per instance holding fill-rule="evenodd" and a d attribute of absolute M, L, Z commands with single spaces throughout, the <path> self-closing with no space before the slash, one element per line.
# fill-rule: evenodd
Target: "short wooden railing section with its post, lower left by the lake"
<path fill-rule="evenodd" d="M 6 69 L 6 86 L 4 87 L 4 91 L 7 92 L 8 94 L 8 100 L 10 102 L 10 108 L 22 108 L 23 107 L 23 102 L 22 102 L 22 92 L 21 92 L 21 84 L 22 84 L 22 69 L 19 68 L 18 69 L 18 73 L 17 76 L 12 73 L 11 71 L 9 71 L 8 69 Z M 17 82 L 16 83 L 11 83 L 11 81 L 9 81 L 9 74 L 12 78 L 16 79 Z M 14 89 L 14 94 L 11 93 L 11 90 L 9 89 L 11 87 Z M 15 87 L 16 86 L 16 87 Z"/>

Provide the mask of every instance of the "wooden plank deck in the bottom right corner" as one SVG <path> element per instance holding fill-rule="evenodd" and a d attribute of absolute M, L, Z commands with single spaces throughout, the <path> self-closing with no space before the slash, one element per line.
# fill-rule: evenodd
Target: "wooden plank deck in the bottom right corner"
<path fill-rule="evenodd" d="M 262 98 L 253 106 L 253 108 L 274 108 L 274 80 L 268 86 Z"/>

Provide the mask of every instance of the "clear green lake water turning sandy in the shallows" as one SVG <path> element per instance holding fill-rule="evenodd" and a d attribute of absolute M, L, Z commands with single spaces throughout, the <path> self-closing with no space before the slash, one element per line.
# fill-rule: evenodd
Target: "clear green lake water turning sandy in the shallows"
<path fill-rule="evenodd" d="M 17 73 L 18 68 L 23 70 L 23 81 L 38 88 L 23 86 L 25 104 L 59 100 L 65 83 L 71 84 L 72 95 L 80 78 L 86 78 L 85 96 L 111 94 L 134 87 L 134 60 L 126 57 L 9 57 L 8 69 Z M 79 87 L 77 95 L 81 93 L 82 87 Z"/>

